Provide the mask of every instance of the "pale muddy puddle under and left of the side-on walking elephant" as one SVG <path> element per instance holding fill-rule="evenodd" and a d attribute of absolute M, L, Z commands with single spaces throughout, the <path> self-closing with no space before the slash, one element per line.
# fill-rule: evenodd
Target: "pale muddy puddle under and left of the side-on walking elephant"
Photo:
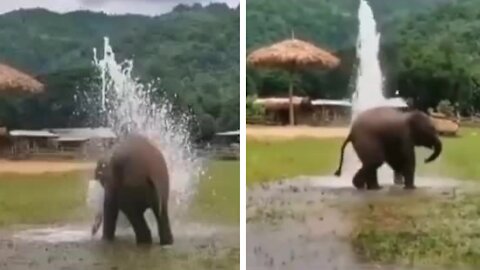
<path fill-rule="evenodd" d="M 248 190 L 248 269 L 418 269 L 373 265 L 359 258 L 349 242 L 349 209 L 372 197 L 455 196 L 461 183 L 417 178 L 418 188 L 406 191 L 393 184 L 388 172 L 380 175 L 379 191 L 357 191 L 347 176 L 300 177 Z"/>

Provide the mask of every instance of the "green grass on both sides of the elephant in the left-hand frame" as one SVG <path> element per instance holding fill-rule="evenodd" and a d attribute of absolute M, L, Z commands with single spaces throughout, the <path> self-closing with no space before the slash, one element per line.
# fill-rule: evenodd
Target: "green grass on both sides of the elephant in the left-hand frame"
<path fill-rule="evenodd" d="M 0 174 L 0 226 L 81 221 L 89 216 L 85 172 Z M 192 214 L 238 224 L 239 162 L 214 161 L 202 177 Z"/>

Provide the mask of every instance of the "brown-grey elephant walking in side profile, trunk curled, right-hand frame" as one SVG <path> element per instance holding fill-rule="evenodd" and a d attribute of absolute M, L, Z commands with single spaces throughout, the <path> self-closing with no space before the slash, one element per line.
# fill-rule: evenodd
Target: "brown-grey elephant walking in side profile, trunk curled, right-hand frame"
<path fill-rule="evenodd" d="M 340 176 L 345 146 L 351 142 L 362 167 L 353 177 L 357 189 L 380 189 L 377 169 L 386 162 L 395 172 L 395 183 L 404 179 L 406 189 L 414 189 L 415 146 L 433 150 L 425 163 L 434 161 L 442 152 L 442 143 L 430 117 L 420 111 L 400 112 L 379 107 L 366 110 L 352 123 L 350 134 L 341 149 Z"/>

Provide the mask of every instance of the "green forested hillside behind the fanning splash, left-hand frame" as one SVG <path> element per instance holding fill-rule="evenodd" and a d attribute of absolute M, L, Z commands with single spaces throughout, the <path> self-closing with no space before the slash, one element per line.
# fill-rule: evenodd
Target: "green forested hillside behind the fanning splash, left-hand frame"
<path fill-rule="evenodd" d="M 74 96 L 92 91 L 93 48 L 103 50 L 104 36 L 117 59 L 134 59 L 135 75 L 160 78 L 161 90 L 198 119 L 215 121 L 218 130 L 239 127 L 239 10 L 224 4 L 180 5 L 158 17 L 43 9 L 0 16 L 0 61 L 47 86 L 40 96 L 2 98 L 2 121 L 25 128 L 84 124 Z"/>

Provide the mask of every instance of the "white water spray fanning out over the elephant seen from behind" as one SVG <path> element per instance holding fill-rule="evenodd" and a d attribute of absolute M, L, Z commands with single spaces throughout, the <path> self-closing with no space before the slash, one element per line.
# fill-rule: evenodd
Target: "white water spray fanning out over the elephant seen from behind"
<path fill-rule="evenodd" d="M 139 132 L 149 137 L 165 156 L 174 202 L 187 205 L 201 172 L 201 160 L 191 144 L 190 115 L 176 113 L 154 86 L 155 81 L 144 84 L 132 77 L 133 61 L 117 62 L 107 37 L 103 58 L 99 59 L 94 49 L 93 63 L 101 79 L 101 112 L 97 117 L 105 117 L 106 125 L 116 134 Z"/>

